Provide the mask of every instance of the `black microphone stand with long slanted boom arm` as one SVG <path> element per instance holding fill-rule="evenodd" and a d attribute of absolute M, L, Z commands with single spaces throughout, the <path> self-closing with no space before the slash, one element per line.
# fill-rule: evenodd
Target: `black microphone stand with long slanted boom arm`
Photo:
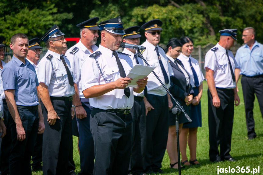
<path fill-rule="evenodd" d="M 139 55 L 139 57 L 146 63 L 147 66 L 150 67 L 150 65 L 147 63 L 147 61 L 144 59 L 144 57 L 142 56 L 142 54 L 140 53 L 139 49 L 135 49 L 137 50 L 137 54 Z M 158 77 L 158 75 L 156 75 L 156 73 L 154 71 L 152 71 L 152 73 L 155 75 L 155 77 L 158 79 L 158 81 L 162 84 L 162 86 L 164 87 L 164 89 L 167 91 L 167 93 L 171 96 L 171 98 L 174 100 L 175 102 L 175 107 L 172 109 L 172 114 L 175 114 L 175 120 L 176 120 L 176 138 L 177 138 L 177 155 L 178 155 L 178 173 L 179 175 L 181 175 L 181 161 L 180 161 L 180 147 L 179 147 L 179 121 L 178 121 L 178 115 L 180 113 L 183 113 L 184 116 L 187 118 L 187 120 L 189 122 L 192 122 L 192 120 L 190 119 L 190 117 L 186 114 L 185 110 L 183 109 L 183 107 L 180 105 L 180 103 L 174 98 L 174 96 L 172 96 L 172 94 L 170 93 L 170 91 L 166 88 L 166 86 L 163 84 L 163 82 L 160 80 L 160 78 Z"/>

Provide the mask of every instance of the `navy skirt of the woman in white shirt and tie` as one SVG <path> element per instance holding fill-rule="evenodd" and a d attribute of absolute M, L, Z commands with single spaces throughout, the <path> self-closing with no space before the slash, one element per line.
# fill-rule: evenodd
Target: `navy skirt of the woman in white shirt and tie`
<path fill-rule="evenodd" d="M 194 88 L 194 96 L 198 95 L 198 87 Z M 201 100 L 198 105 L 191 104 L 191 123 L 184 123 L 183 128 L 195 128 L 195 127 L 201 127 L 202 126 L 202 113 L 201 113 Z"/>

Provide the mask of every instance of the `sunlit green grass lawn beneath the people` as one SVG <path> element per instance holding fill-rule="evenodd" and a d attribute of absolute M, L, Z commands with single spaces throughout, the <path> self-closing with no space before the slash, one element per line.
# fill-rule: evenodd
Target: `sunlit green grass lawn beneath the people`
<path fill-rule="evenodd" d="M 234 115 L 234 124 L 233 124 L 233 133 L 232 133 L 232 145 L 230 154 L 233 156 L 237 162 L 219 162 L 211 163 L 209 161 L 208 151 L 209 151 L 209 138 L 208 138 L 208 101 L 207 101 L 207 83 L 204 82 L 203 96 L 201 99 L 202 105 L 202 127 L 198 128 L 197 132 L 197 159 L 200 166 L 187 166 L 187 168 L 182 169 L 182 174 L 202 174 L 202 175 L 214 175 L 217 174 L 218 168 L 236 168 L 244 166 L 244 169 L 249 166 L 250 171 L 253 171 L 253 168 L 260 166 L 260 173 L 254 174 L 263 174 L 263 127 L 262 127 L 262 117 L 258 106 L 257 99 L 254 102 L 254 120 L 255 120 L 255 131 L 257 137 L 253 140 L 247 140 L 247 127 L 245 120 L 245 109 L 243 94 L 240 82 L 238 83 L 240 97 L 240 105 L 235 107 Z M 263 87 L 262 87 L 263 88 Z M 76 164 L 76 173 L 80 172 L 80 156 L 77 150 L 77 137 L 73 136 L 74 142 L 74 161 Z M 187 157 L 190 158 L 189 149 L 187 148 Z M 170 160 L 167 152 L 162 161 L 162 170 L 164 175 L 176 175 L 178 170 L 169 168 Z M 218 167 L 219 166 L 219 167 Z M 232 170 L 233 171 L 233 170 Z M 247 170 L 246 170 L 247 171 Z M 243 171 L 242 171 L 243 172 Z M 41 175 L 42 172 L 33 172 L 33 175 Z M 249 173 L 220 173 L 219 174 L 253 174 Z"/>

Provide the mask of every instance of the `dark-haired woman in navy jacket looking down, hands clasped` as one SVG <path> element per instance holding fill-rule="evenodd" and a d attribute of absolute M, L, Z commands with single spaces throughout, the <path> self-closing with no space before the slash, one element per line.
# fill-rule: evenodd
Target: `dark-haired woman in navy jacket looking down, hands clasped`
<path fill-rule="evenodd" d="M 176 59 L 182 50 L 182 44 L 176 38 L 169 40 L 165 53 L 172 66 L 174 75 L 170 77 L 171 87 L 169 88 L 175 99 L 183 106 L 185 112 L 190 116 L 191 106 L 189 105 L 194 97 L 194 90 L 190 85 L 190 75 L 187 73 L 181 61 Z M 173 102 L 175 106 L 175 102 Z M 183 113 L 179 114 L 179 133 L 183 127 L 183 123 L 188 122 Z M 176 139 L 176 126 L 175 115 L 172 110 L 169 111 L 169 133 L 167 141 L 167 153 L 170 158 L 170 168 L 178 168 L 178 155 L 177 155 L 177 139 Z"/>

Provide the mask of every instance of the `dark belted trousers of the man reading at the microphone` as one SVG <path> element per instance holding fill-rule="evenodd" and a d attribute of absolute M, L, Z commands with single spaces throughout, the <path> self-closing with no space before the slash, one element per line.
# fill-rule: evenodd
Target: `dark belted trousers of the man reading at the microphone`
<path fill-rule="evenodd" d="M 94 175 L 128 174 L 131 122 L 131 114 L 92 109 L 90 126 L 95 145 Z"/>

